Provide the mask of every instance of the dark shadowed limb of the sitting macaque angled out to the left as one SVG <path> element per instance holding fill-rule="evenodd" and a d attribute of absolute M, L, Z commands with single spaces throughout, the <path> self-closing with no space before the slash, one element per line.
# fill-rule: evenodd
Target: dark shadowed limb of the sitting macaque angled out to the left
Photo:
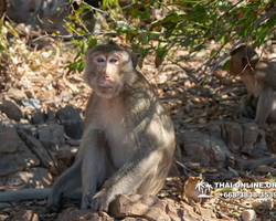
<path fill-rule="evenodd" d="M 57 178 L 47 199 L 47 210 L 60 211 L 62 197 L 66 192 L 71 192 L 81 187 L 81 171 L 82 160 L 77 160 L 71 168 L 68 168 L 61 177 Z"/>

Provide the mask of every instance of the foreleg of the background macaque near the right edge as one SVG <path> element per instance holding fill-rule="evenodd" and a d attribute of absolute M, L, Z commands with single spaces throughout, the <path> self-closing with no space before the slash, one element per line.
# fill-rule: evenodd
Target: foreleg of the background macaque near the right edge
<path fill-rule="evenodd" d="M 270 86 L 267 86 L 259 94 L 257 103 L 257 112 L 255 116 L 255 123 L 258 127 L 264 127 L 268 115 L 273 109 L 274 99 L 274 90 Z"/>

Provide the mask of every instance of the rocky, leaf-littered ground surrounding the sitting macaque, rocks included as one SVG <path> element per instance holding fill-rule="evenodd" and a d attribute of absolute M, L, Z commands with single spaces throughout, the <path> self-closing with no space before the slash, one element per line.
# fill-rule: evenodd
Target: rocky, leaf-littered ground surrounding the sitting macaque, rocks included
<path fill-rule="evenodd" d="M 22 40 L 23 41 L 23 40 Z M 91 90 L 82 73 L 64 71 L 73 61 L 68 42 L 49 42 L 34 49 L 10 48 L 13 56 L 1 57 L 0 66 L 0 191 L 51 187 L 68 168 L 79 146 L 83 114 Z M 215 46 L 215 44 L 213 45 Z M 265 52 L 276 56 L 275 48 Z M 205 52 L 206 53 L 206 52 Z M 185 51 L 177 51 L 181 60 Z M 229 192 L 273 192 L 274 189 L 221 188 L 211 199 L 199 199 L 195 185 L 214 182 L 275 182 L 276 165 L 257 166 L 275 152 L 274 125 L 259 129 L 252 120 L 236 119 L 245 88 L 241 81 L 217 69 L 200 80 L 204 53 L 155 67 L 153 55 L 138 67 L 156 85 L 168 107 L 177 135 L 176 161 L 158 197 L 119 196 L 108 213 L 78 210 L 68 200 L 60 213 L 46 213 L 46 200 L 1 202 L 0 221 L 36 220 L 276 220 L 274 196 L 235 198 Z M 187 74 L 188 73 L 188 74 Z"/>

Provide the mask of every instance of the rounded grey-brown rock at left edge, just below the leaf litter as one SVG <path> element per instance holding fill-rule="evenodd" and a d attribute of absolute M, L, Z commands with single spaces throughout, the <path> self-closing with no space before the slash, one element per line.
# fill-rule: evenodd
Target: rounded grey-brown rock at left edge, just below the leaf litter
<path fill-rule="evenodd" d="M 10 119 L 14 119 L 15 122 L 20 122 L 23 118 L 23 113 L 14 103 L 10 101 L 3 101 L 0 104 L 0 110 L 2 110 Z"/>

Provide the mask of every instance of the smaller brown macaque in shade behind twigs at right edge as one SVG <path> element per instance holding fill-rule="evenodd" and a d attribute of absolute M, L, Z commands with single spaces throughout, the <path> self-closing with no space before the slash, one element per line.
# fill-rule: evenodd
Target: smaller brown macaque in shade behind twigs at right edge
<path fill-rule="evenodd" d="M 229 65 L 231 75 L 241 76 L 247 91 L 242 110 L 254 116 L 255 123 L 276 122 L 276 69 L 267 61 L 259 61 L 257 53 L 246 45 L 234 50 Z"/>

